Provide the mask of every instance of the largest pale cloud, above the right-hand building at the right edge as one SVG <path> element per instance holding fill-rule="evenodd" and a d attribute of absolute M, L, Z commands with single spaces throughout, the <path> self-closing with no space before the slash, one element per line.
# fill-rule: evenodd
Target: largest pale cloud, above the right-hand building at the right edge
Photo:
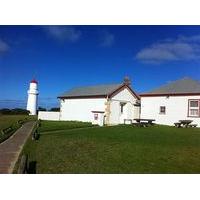
<path fill-rule="evenodd" d="M 200 59 L 200 35 L 162 40 L 141 49 L 135 57 L 140 61 L 153 63 L 198 60 Z"/>

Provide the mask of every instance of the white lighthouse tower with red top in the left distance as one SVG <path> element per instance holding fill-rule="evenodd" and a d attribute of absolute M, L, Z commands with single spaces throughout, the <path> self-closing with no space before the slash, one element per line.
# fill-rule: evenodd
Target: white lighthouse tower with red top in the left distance
<path fill-rule="evenodd" d="M 28 101 L 27 101 L 27 110 L 30 111 L 30 115 L 37 114 L 37 101 L 38 101 L 38 82 L 33 79 L 30 82 L 30 87 L 28 90 Z"/>

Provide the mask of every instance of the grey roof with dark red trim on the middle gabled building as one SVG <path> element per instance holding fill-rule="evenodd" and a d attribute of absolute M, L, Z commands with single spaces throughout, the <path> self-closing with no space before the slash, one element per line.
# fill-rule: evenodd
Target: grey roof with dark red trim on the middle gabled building
<path fill-rule="evenodd" d="M 106 97 L 114 94 L 124 87 L 128 87 L 131 92 L 137 98 L 139 98 L 137 94 L 135 94 L 132 89 L 126 84 L 108 84 L 73 88 L 59 95 L 58 98 Z"/>

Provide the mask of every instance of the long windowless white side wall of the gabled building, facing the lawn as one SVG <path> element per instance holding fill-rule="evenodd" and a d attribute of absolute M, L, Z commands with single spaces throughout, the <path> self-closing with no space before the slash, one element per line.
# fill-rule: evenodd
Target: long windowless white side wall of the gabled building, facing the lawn
<path fill-rule="evenodd" d="M 105 111 L 105 102 L 105 98 L 61 100 L 60 120 L 92 122 L 92 111 Z"/>

